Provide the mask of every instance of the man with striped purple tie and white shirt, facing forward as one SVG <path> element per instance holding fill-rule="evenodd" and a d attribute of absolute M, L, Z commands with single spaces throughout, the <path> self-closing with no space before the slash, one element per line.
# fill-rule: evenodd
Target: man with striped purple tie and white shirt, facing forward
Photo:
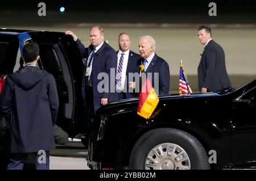
<path fill-rule="evenodd" d="M 133 89 L 134 79 L 129 79 L 129 77 L 131 78 L 129 73 L 137 72 L 137 61 L 141 56 L 130 50 L 131 41 L 127 33 L 120 33 L 117 43 L 119 50 L 117 51 L 118 63 L 115 80 L 117 82 L 118 99 L 135 98 L 137 94 Z"/>

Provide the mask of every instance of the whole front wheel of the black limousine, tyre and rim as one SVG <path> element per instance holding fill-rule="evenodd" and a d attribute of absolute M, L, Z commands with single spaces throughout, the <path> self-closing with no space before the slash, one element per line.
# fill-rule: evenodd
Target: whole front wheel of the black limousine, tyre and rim
<path fill-rule="evenodd" d="M 130 169 L 210 169 L 207 153 L 191 134 L 172 128 L 151 130 L 136 142 L 129 160 Z"/>

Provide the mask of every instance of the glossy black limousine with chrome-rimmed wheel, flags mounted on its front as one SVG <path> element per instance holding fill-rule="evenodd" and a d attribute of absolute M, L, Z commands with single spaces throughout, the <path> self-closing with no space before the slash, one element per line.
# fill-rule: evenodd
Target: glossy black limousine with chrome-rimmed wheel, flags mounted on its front
<path fill-rule="evenodd" d="M 91 169 L 255 169 L 256 79 L 213 94 L 159 96 L 150 119 L 138 98 L 96 112 Z"/>

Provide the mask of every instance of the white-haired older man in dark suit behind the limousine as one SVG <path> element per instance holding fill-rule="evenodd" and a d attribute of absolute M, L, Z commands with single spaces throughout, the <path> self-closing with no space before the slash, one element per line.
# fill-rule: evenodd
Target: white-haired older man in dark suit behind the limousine
<path fill-rule="evenodd" d="M 156 94 L 168 94 L 170 87 L 169 65 L 163 58 L 155 54 L 155 40 L 153 37 L 142 36 L 139 39 L 139 53 L 142 58 L 137 63 L 138 72 L 141 72 L 139 66 L 143 65 L 143 71 L 151 79 Z"/>

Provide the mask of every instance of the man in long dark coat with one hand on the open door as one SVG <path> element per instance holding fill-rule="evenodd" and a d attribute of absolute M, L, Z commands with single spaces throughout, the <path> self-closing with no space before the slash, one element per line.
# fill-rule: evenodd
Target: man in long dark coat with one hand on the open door
<path fill-rule="evenodd" d="M 117 100 L 116 92 L 110 91 L 110 69 L 115 71 L 117 68 L 117 53 L 104 41 L 104 30 L 99 26 L 94 26 L 90 29 L 91 44 L 88 48 L 85 48 L 71 31 L 67 31 L 66 34 L 73 37 L 82 57 L 85 58 L 85 90 L 92 89 L 92 108 L 93 112 L 96 112 L 102 105 Z M 102 81 L 102 79 L 97 79 L 100 73 L 109 75 L 109 80 L 106 80 L 109 83 L 108 91 L 101 92 L 101 90 L 97 90 L 98 83 Z M 87 95 L 85 96 L 88 97 Z"/>

